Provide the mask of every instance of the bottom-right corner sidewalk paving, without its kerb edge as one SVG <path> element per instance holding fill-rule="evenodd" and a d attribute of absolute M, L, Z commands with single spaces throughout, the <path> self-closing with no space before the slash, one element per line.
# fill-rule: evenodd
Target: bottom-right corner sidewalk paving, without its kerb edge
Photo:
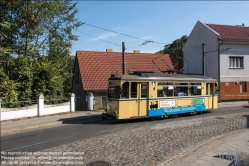
<path fill-rule="evenodd" d="M 249 130 L 245 129 L 230 138 L 220 141 L 208 149 L 192 166 L 248 166 L 249 165 Z"/>

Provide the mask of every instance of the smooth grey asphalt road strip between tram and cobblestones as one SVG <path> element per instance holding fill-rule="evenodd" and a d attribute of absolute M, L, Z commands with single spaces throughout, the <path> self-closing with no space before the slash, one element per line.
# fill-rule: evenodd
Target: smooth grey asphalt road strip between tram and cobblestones
<path fill-rule="evenodd" d="M 46 148 L 59 146 L 62 144 L 75 142 L 78 140 L 95 137 L 115 131 L 131 129 L 138 126 L 158 124 L 167 121 L 179 121 L 200 116 L 219 116 L 231 113 L 248 112 L 248 108 L 226 107 L 202 115 L 179 116 L 178 118 L 167 118 L 164 120 L 151 121 L 150 119 L 132 119 L 119 122 L 107 122 L 102 120 L 78 121 L 70 124 L 61 124 L 53 127 L 33 129 L 29 131 L 17 132 L 15 134 L 3 134 L 1 136 L 1 151 L 12 152 L 36 152 Z"/>

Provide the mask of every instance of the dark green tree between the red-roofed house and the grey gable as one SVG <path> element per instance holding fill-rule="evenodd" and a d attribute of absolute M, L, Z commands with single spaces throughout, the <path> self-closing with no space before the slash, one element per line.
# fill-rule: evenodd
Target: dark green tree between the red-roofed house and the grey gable
<path fill-rule="evenodd" d="M 171 44 L 165 45 L 163 50 L 156 53 L 170 54 L 170 56 L 175 60 L 180 69 L 183 68 L 183 52 L 182 47 L 188 40 L 188 36 L 184 35 L 179 39 L 174 40 Z"/>

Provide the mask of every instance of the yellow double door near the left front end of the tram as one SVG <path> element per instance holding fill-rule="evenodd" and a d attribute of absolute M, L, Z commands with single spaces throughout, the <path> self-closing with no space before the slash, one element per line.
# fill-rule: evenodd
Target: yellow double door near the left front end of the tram
<path fill-rule="evenodd" d="M 146 116 L 147 115 L 147 82 L 131 82 L 131 109 L 130 116 Z"/>

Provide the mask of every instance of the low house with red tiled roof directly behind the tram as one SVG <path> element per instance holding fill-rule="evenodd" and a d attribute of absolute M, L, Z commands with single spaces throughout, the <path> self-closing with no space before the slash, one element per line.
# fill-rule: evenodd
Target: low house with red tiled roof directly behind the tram
<path fill-rule="evenodd" d="M 155 73 L 179 70 L 168 54 L 125 53 L 126 74 L 129 70 L 153 71 Z M 86 95 L 91 92 L 95 99 L 94 109 L 106 107 L 108 78 L 116 72 L 122 73 L 122 53 L 98 51 L 76 51 L 73 93 L 76 110 L 87 110 Z"/>

